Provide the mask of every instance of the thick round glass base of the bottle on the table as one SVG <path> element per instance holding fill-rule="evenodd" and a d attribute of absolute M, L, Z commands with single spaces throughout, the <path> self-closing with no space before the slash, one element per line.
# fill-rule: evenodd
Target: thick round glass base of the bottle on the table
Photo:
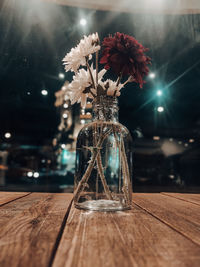
<path fill-rule="evenodd" d="M 130 206 L 123 206 L 119 201 L 106 199 L 88 200 L 76 203 L 75 207 L 93 211 L 122 211 L 131 209 Z"/>

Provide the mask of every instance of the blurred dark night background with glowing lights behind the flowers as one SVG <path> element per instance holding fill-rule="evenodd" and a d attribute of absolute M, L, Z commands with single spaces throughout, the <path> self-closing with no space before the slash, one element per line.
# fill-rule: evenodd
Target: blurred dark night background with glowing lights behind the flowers
<path fill-rule="evenodd" d="M 103 40 L 117 31 L 152 58 L 143 89 L 128 84 L 119 98 L 134 140 L 133 190 L 199 191 L 198 0 L 1 1 L 0 190 L 73 190 L 76 138 L 91 104 L 70 105 L 62 59 L 84 34 Z"/>

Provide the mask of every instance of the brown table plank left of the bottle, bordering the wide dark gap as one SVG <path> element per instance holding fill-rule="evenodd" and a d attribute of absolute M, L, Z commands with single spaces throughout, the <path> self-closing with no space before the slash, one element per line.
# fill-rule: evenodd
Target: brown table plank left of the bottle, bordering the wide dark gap
<path fill-rule="evenodd" d="M 49 266 L 72 194 L 32 193 L 0 208 L 0 266 Z"/>

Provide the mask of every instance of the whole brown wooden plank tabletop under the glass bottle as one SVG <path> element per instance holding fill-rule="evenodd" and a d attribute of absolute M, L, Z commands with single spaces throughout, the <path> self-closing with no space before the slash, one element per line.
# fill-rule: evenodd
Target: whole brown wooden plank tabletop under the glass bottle
<path fill-rule="evenodd" d="M 126 212 L 72 194 L 0 192 L 0 266 L 200 266 L 200 195 L 133 194 Z"/>

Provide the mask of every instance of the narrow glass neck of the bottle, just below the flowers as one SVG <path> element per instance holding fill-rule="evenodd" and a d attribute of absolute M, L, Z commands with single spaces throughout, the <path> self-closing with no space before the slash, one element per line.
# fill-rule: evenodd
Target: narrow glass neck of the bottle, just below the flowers
<path fill-rule="evenodd" d="M 116 97 L 100 96 L 93 101 L 93 121 L 118 122 L 118 110 Z"/>

